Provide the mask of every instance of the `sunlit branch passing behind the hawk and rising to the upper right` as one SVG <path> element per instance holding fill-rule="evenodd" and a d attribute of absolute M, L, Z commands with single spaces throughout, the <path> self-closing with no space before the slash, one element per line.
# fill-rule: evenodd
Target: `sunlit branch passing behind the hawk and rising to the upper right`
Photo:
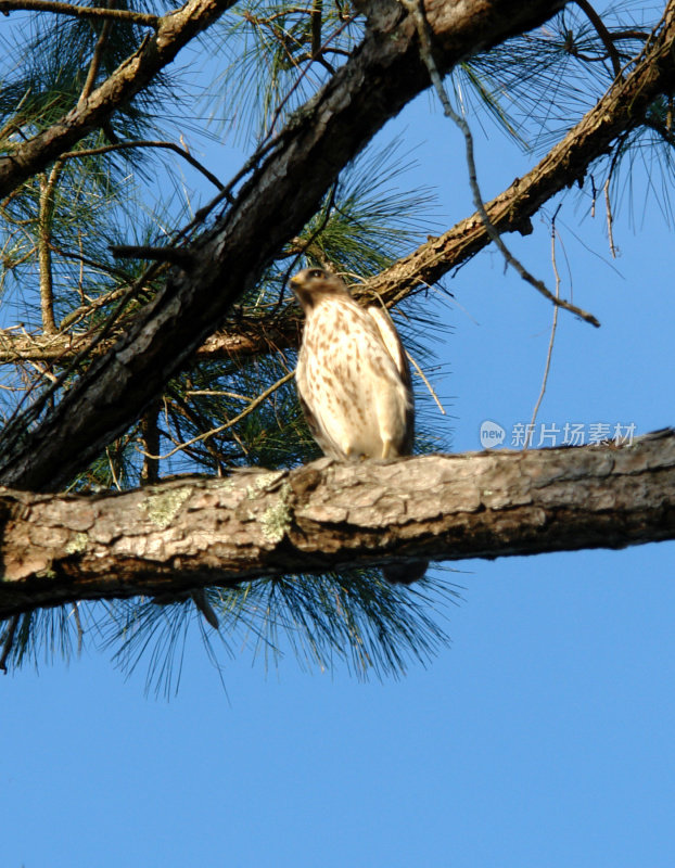
<path fill-rule="evenodd" d="M 673 38 L 671 24 L 670 29 L 664 30 L 662 39 L 648 50 L 644 61 L 625 82 L 614 82 L 608 93 L 584 115 L 551 153 L 485 205 L 491 220 L 499 231 L 527 231 L 530 218 L 542 204 L 583 178 L 590 164 L 608 151 L 609 144 L 617 136 L 638 123 L 652 126 L 651 122 L 645 122 L 641 114 L 636 115 L 633 101 L 639 94 L 644 111 L 644 106 L 667 89 L 668 85 L 672 87 L 675 61 L 672 52 L 668 53 L 668 46 L 673 46 Z M 650 74 L 652 63 L 661 68 L 661 75 Z M 77 154 L 78 152 L 73 152 L 63 156 Z M 450 269 L 487 246 L 489 241 L 480 216 L 473 214 L 444 234 L 430 239 L 380 275 L 365 281 L 361 286 L 354 289 L 354 293 L 365 298 L 377 293 L 387 304 L 397 304 L 420 286 L 440 280 Z M 228 323 L 224 330 L 206 339 L 196 356 L 252 356 L 296 347 L 301 331 L 302 321 L 295 318 L 283 322 L 278 318 L 265 317 L 255 322 L 245 322 L 241 328 L 238 323 Z M 28 339 L 5 331 L 0 332 L 0 362 L 21 359 L 66 363 L 80 352 L 81 346 L 81 341 L 66 335 L 55 339 L 35 335 Z M 109 348 L 110 343 L 106 343 L 98 348 L 98 353 Z"/>

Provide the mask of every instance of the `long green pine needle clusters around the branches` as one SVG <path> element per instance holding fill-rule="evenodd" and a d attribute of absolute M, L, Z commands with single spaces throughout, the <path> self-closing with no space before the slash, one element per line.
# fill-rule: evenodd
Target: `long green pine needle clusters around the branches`
<path fill-rule="evenodd" d="M 148 3 L 135 9 L 166 11 Z M 457 105 L 476 124 L 495 123 L 524 150 L 550 148 L 611 85 L 616 64 L 629 67 L 655 16 L 640 4 L 620 4 L 604 10 L 602 22 L 598 29 L 581 4 L 571 4 L 538 31 L 463 63 L 451 77 Z M 48 12 L 12 18 L 0 47 L 0 155 L 11 156 L 18 142 L 86 99 L 143 34 L 140 25 L 117 20 Z M 102 332 L 112 340 L 124 331 L 161 285 L 168 266 L 118 258 L 111 247 L 161 246 L 175 238 L 214 195 L 218 149 L 265 146 L 364 34 L 365 20 L 349 2 L 238 3 L 200 38 L 189 61 L 156 77 L 110 123 L 0 202 L 1 328 L 36 337 L 86 335 L 93 344 L 75 360 L 3 366 L 0 449 L 16 448 L 22 430 L 92 363 Z M 668 217 L 672 116 L 672 98 L 655 100 L 647 123 L 622 137 L 596 167 L 619 189 L 632 162 L 646 161 Z M 122 146 L 131 142 L 137 146 Z M 300 268 L 328 267 L 357 284 L 421 243 L 437 224 L 433 192 L 406 189 L 411 161 L 402 142 L 390 141 L 347 166 L 226 328 L 235 329 L 241 317 L 296 317 L 288 280 Z M 219 180 L 221 187 L 226 179 Z M 428 372 L 437 370 L 428 340 L 435 321 L 431 305 L 430 297 L 411 296 L 394 312 Z M 290 349 L 195 358 L 142 419 L 71 481 L 71 490 L 124 490 L 176 473 L 226 475 L 238 467 L 292 467 L 317 457 L 289 379 L 294 365 Z M 418 448 L 443 449 L 448 443 L 433 400 L 415 380 Z M 423 663 L 447 641 L 438 613 L 455 590 L 438 578 L 393 588 L 378 571 L 359 570 L 207 595 L 220 620 L 217 639 L 190 599 L 80 604 L 22 615 L 5 628 L 5 640 L 10 629 L 13 640 L 5 662 L 67 659 L 85 636 L 112 648 L 125 671 L 145 661 L 149 687 L 170 692 L 180 679 L 186 637 L 196 628 L 221 671 L 222 653 L 234 654 L 244 639 L 265 661 L 292 651 L 301 665 L 341 663 L 359 676 L 400 675 L 410 661 Z"/>

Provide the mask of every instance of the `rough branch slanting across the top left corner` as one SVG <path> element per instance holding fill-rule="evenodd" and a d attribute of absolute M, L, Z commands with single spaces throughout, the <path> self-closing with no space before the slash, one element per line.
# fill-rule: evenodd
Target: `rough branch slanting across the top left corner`
<path fill-rule="evenodd" d="M 154 76 L 169 64 L 180 49 L 208 27 L 234 0 L 189 0 L 182 9 L 164 15 L 157 30 L 139 49 L 81 101 L 61 122 L 17 144 L 11 154 L 0 157 L 0 199 L 35 173 L 43 169 L 61 153 L 106 122 L 120 105 L 148 87 Z"/>

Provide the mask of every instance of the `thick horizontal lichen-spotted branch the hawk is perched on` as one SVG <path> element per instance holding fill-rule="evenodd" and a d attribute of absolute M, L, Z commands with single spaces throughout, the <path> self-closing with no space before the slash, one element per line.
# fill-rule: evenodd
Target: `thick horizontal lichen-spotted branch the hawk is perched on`
<path fill-rule="evenodd" d="M 120 495 L 3 489 L 0 617 L 402 557 L 498 558 L 675 538 L 675 431 L 632 446 L 423 456 Z"/>

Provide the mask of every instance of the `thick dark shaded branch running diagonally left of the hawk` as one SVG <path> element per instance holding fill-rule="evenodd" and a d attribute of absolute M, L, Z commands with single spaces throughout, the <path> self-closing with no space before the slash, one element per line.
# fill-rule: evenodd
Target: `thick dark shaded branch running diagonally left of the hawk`
<path fill-rule="evenodd" d="M 515 7 L 509 0 L 430 2 L 426 13 L 437 40 L 438 67 L 448 69 L 471 53 L 539 24 L 562 4 L 544 0 Z M 209 14 L 214 17 L 219 11 L 220 7 Z M 136 92 L 136 77 L 133 81 Z M 22 488 L 58 488 L 138 419 L 164 383 L 220 326 L 232 302 L 255 285 L 281 245 L 301 231 L 340 169 L 426 86 L 412 22 L 404 17 L 391 31 L 370 31 L 290 122 L 214 229 L 192 246 L 199 265 L 169 279 L 129 333 L 91 366 L 25 439 L 24 449 L 9 444 L 2 482 Z M 0 194 L 2 189 L 0 182 Z"/>

